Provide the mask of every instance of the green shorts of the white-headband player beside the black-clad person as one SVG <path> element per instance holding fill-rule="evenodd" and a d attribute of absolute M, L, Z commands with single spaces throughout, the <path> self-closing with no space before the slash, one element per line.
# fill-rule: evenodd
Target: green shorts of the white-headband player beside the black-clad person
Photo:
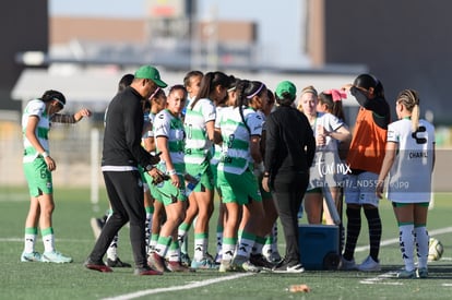
<path fill-rule="evenodd" d="M 262 201 L 255 176 L 247 169 L 241 175 L 218 170 L 218 188 L 222 191 L 223 203 L 249 204 L 251 201 Z"/>

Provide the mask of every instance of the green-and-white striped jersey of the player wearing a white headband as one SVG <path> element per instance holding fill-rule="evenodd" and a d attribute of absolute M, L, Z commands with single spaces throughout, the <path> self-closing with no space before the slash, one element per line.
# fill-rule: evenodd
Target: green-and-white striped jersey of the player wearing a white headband
<path fill-rule="evenodd" d="M 243 120 L 236 107 L 219 120 L 223 145 L 218 170 L 241 175 L 249 167 L 251 158 L 250 136 L 262 134 L 262 118 L 251 108 L 243 108 Z"/>

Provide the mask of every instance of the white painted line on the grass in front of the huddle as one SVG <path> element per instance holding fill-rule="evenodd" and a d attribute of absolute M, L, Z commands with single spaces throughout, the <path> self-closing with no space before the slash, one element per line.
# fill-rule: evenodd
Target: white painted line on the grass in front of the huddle
<path fill-rule="evenodd" d="M 131 293 L 126 293 L 126 295 L 116 296 L 116 297 L 111 297 L 111 298 L 104 298 L 104 299 L 105 300 L 129 300 L 129 299 L 139 298 L 139 297 L 143 297 L 143 296 L 147 296 L 147 295 L 164 292 L 164 291 L 175 291 L 175 290 L 183 290 L 183 289 L 192 289 L 192 288 L 204 287 L 204 286 L 209 286 L 209 285 L 221 283 L 221 281 L 227 281 L 227 280 L 237 279 L 237 278 L 240 278 L 240 277 L 251 276 L 251 275 L 254 275 L 254 274 L 255 273 L 240 273 L 240 274 L 236 274 L 236 275 L 233 275 L 233 276 L 225 276 L 225 277 L 219 277 L 219 278 L 215 278 L 215 279 L 195 281 L 195 283 L 185 285 L 185 286 L 179 286 L 179 287 L 167 287 L 167 288 L 157 288 L 157 289 L 153 288 L 153 289 L 140 290 L 140 291 L 135 291 L 135 292 L 131 292 Z"/>

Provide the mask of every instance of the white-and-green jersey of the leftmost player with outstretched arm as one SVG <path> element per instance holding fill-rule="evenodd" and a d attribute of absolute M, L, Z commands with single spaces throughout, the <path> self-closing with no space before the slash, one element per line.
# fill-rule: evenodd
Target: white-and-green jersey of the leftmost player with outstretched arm
<path fill-rule="evenodd" d="M 26 125 L 31 116 L 36 116 L 39 118 L 39 122 L 37 123 L 35 130 L 35 135 L 44 149 L 46 152 L 49 152 L 48 135 L 50 130 L 50 118 L 46 112 L 46 104 L 39 99 L 33 99 L 26 105 L 24 113 L 22 115 L 22 135 L 24 141 L 23 163 L 32 163 L 38 156 L 38 153 L 25 136 Z"/>

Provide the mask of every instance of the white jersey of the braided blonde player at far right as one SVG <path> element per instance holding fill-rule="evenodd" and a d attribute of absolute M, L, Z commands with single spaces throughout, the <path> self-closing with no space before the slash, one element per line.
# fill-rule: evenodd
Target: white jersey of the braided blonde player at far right
<path fill-rule="evenodd" d="M 431 200 L 435 128 L 419 120 L 412 132 L 412 121 L 402 119 L 388 125 L 388 142 L 399 144 L 390 170 L 388 199 L 400 203 L 420 203 Z"/>

